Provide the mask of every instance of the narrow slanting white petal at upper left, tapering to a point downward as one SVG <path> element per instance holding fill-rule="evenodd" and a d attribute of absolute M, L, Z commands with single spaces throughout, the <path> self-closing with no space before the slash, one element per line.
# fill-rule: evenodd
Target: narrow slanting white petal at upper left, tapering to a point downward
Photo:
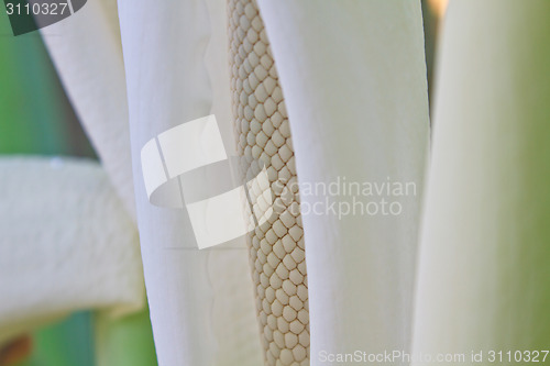
<path fill-rule="evenodd" d="M 80 123 L 135 218 L 117 1 L 88 1 L 41 32 Z"/>

